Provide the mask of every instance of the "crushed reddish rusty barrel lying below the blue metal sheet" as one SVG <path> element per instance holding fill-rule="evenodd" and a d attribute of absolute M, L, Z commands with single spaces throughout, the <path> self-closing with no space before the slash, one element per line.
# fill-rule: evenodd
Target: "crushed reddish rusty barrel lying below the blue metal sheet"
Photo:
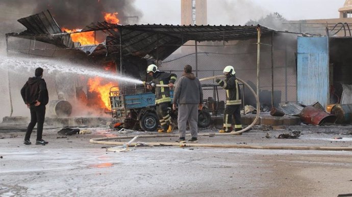
<path fill-rule="evenodd" d="M 322 125 L 324 123 L 335 123 L 336 116 L 313 106 L 306 106 L 300 113 L 300 120 L 305 124 Z"/>

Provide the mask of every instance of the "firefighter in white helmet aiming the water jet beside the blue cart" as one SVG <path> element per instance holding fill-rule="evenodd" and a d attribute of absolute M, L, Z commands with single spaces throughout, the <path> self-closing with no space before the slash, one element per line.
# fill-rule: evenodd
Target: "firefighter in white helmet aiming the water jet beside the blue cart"
<path fill-rule="evenodd" d="M 177 75 L 173 73 L 161 72 L 158 67 L 151 64 L 147 67 L 147 74 L 153 77 L 152 82 L 147 85 L 147 89 L 155 93 L 155 104 L 157 115 L 161 125 L 158 132 L 172 132 L 171 116 L 168 113 L 168 107 L 171 107 L 170 89 L 173 88 Z M 169 87 L 155 87 L 155 85 L 169 85 Z"/>

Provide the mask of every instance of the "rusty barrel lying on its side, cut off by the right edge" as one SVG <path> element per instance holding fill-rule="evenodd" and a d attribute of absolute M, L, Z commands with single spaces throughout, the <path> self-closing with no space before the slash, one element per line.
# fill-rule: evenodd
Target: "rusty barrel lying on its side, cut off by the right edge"
<path fill-rule="evenodd" d="M 352 104 L 336 104 L 331 109 L 331 114 L 337 117 L 337 124 L 350 124 L 352 121 Z"/>

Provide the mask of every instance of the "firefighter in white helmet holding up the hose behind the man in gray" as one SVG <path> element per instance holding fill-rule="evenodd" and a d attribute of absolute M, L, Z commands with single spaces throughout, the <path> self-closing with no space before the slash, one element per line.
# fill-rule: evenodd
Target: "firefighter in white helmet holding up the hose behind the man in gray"
<path fill-rule="evenodd" d="M 223 112 L 223 126 L 220 133 L 229 133 L 233 131 L 233 119 L 235 131 L 242 130 L 241 124 L 241 91 L 236 78 L 236 72 L 233 66 L 226 66 L 223 69 L 226 79 L 216 79 L 215 81 L 226 90 L 226 106 Z"/>

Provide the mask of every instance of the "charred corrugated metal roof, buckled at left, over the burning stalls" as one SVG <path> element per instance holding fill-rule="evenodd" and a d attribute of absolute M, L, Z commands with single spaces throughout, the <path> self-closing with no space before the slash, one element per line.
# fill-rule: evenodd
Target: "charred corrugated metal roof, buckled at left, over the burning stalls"
<path fill-rule="evenodd" d="M 81 32 L 103 31 L 108 36 L 100 47 L 81 47 L 73 43 L 69 34 L 62 33 L 60 27 L 49 13 L 44 11 L 18 20 L 27 27 L 27 31 L 8 36 L 36 39 L 51 43 L 59 47 L 82 50 L 87 54 L 106 55 L 120 53 L 120 35 L 122 41 L 122 55 L 144 57 L 151 55 L 159 60 L 166 59 L 172 52 L 189 40 L 195 41 L 230 41 L 245 40 L 257 37 L 257 26 L 241 25 L 120 25 L 107 22 L 93 22 L 83 28 Z M 271 30 L 258 25 L 261 34 L 269 34 Z"/>

